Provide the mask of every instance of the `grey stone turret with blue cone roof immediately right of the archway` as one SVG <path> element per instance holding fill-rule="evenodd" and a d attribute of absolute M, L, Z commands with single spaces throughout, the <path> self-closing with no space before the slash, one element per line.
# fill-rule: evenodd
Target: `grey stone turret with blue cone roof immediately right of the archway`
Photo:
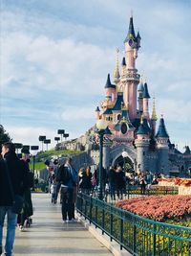
<path fill-rule="evenodd" d="M 148 169 L 148 149 L 149 149 L 149 135 L 147 129 L 143 125 L 143 120 L 141 117 L 140 126 L 137 132 L 138 138 L 136 139 L 136 147 L 138 151 L 138 172 L 145 172 Z"/>

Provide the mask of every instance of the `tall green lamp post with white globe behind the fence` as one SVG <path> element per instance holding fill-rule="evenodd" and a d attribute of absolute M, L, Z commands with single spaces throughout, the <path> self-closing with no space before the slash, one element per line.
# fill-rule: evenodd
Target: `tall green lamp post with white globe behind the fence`
<path fill-rule="evenodd" d="M 105 129 L 108 124 L 105 120 L 99 119 L 96 122 L 97 133 L 99 134 L 99 175 L 98 175 L 98 198 L 103 199 L 103 183 L 102 183 L 102 162 L 103 162 L 103 136 L 105 134 Z"/>

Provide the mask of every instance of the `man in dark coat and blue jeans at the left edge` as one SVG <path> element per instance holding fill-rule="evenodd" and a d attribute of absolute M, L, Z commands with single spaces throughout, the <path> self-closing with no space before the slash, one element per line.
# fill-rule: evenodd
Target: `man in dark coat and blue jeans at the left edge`
<path fill-rule="evenodd" d="M 3 250 L 3 225 L 7 214 L 8 229 L 5 244 L 5 255 L 11 256 L 17 221 L 17 214 L 12 213 L 11 211 L 13 201 L 11 187 L 14 195 L 22 196 L 27 188 L 28 182 L 25 166 L 16 156 L 14 144 L 11 142 L 3 144 L 1 154 L 3 159 L 0 160 L 0 254 Z"/>

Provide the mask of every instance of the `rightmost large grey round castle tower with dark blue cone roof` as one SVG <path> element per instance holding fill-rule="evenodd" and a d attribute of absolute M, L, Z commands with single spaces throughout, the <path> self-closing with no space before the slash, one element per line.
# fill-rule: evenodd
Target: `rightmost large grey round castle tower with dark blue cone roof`
<path fill-rule="evenodd" d="M 168 175 L 168 133 L 164 125 L 164 119 L 161 116 L 159 120 L 159 129 L 156 134 L 157 149 L 158 149 L 158 172 L 163 175 Z"/>

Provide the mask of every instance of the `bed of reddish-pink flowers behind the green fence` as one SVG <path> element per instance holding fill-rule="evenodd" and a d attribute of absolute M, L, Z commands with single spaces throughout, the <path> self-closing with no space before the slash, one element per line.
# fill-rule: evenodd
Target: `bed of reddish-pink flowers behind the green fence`
<path fill-rule="evenodd" d="M 191 217 L 191 196 L 157 196 L 120 200 L 117 207 L 156 221 Z"/>

